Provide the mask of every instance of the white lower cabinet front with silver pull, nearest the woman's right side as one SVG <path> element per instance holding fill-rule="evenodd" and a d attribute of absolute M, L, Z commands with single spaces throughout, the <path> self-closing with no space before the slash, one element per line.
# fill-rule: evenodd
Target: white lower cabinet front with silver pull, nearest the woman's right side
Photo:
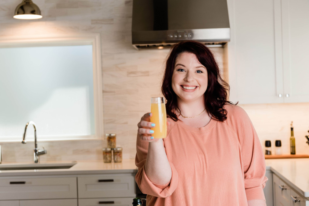
<path fill-rule="evenodd" d="M 273 174 L 274 205 L 290 206 L 290 187 Z"/>

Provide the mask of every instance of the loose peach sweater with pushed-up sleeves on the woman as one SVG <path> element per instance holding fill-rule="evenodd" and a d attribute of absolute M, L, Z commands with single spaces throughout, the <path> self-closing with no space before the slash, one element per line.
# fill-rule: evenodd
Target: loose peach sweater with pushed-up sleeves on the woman
<path fill-rule="evenodd" d="M 173 121 L 163 144 L 171 165 L 171 181 L 152 183 L 145 173 L 148 142 L 137 139 L 138 187 L 147 205 L 241 205 L 265 200 L 265 159 L 247 113 L 227 104 L 224 122 L 211 120 L 194 128 Z"/>

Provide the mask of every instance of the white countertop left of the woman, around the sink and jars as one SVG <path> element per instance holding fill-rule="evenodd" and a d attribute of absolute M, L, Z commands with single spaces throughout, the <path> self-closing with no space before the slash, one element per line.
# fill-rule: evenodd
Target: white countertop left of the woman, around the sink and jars
<path fill-rule="evenodd" d="M 29 162 L 31 163 L 31 162 Z M 43 163 L 43 162 L 42 162 Z M 51 161 L 48 163 L 68 163 L 63 161 Z M 3 163 L 18 164 L 18 163 Z M 23 164 L 25 164 L 23 162 Z M 135 173 L 137 167 L 134 159 L 123 159 L 121 163 L 104 163 L 103 160 L 78 161 L 68 169 L 40 169 L 40 170 L 0 170 L 0 176 L 16 175 L 82 175 L 104 173 Z"/>

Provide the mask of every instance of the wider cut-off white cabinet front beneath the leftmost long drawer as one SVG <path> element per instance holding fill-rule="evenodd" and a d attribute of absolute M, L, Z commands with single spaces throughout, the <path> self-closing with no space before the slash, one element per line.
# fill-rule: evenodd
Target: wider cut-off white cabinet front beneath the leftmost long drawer
<path fill-rule="evenodd" d="M 20 200 L 19 206 L 77 206 L 77 199 Z"/>

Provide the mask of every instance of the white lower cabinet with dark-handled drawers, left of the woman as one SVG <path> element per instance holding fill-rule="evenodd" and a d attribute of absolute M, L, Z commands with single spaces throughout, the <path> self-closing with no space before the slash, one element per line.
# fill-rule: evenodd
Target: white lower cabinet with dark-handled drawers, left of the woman
<path fill-rule="evenodd" d="M 0 206 L 131 206 L 135 173 L 0 177 Z"/>

